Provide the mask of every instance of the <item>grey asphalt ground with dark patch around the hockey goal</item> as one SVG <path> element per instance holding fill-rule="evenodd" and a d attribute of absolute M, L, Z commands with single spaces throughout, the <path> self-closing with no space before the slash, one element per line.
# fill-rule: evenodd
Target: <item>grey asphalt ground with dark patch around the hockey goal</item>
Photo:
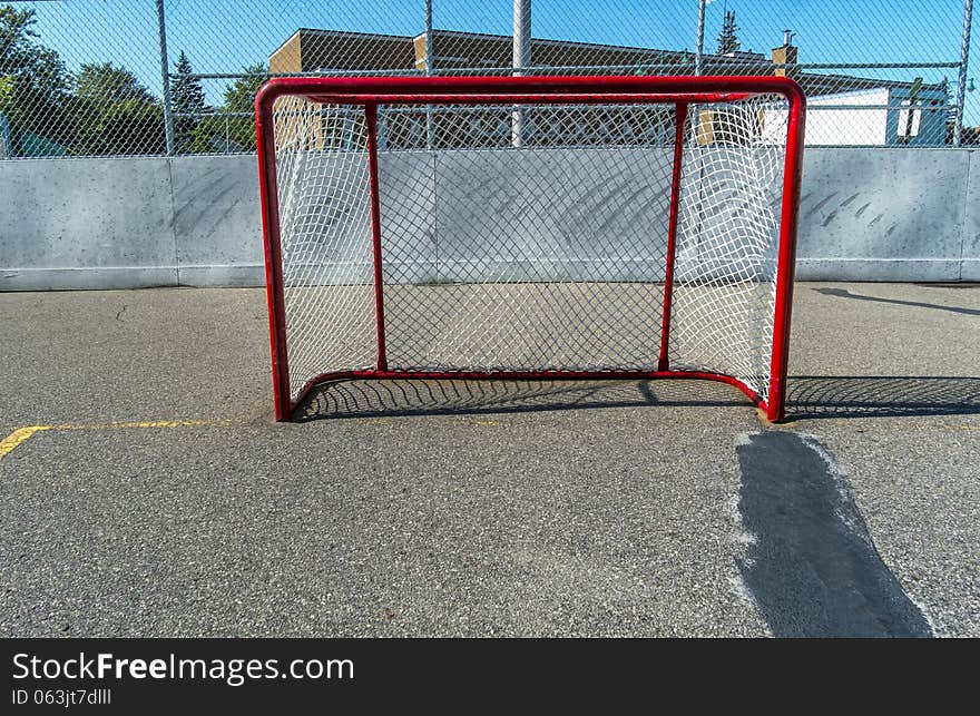
<path fill-rule="evenodd" d="M 800 284 L 781 426 L 686 381 L 274 424 L 256 290 L 0 323 L 2 636 L 980 636 L 980 286 Z"/>

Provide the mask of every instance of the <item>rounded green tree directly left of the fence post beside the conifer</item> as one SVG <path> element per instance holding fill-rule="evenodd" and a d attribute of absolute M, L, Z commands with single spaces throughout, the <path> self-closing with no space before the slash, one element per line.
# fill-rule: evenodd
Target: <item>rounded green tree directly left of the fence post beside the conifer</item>
<path fill-rule="evenodd" d="M 76 77 L 79 104 L 77 154 L 163 154 L 164 111 L 129 70 L 111 62 L 82 65 Z"/>

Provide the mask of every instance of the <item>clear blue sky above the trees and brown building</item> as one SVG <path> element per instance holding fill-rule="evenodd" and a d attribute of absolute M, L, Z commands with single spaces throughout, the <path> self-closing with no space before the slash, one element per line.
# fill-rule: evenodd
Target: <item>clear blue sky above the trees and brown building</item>
<path fill-rule="evenodd" d="M 2 2 L 2 0 L 0 0 Z M 122 65 L 159 94 L 154 0 L 53 0 L 14 2 L 38 11 L 41 41 L 57 49 L 69 68 L 82 62 Z M 804 62 L 957 61 L 962 0 L 714 0 L 707 8 L 706 50 L 715 48 L 724 9 L 736 11 L 743 49 L 768 55 L 783 29 L 796 31 Z M 171 60 L 185 50 L 199 72 L 236 71 L 263 62 L 300 27 L 416 35 L 422 0 L 166 0 Z M 512 0 L 433 0 L 441 29 L 508 33 Z M 612 42 L 668 49 L 696 45 L 696 0 L 537 0 L 535 37 Z M 980 36 L 980 12 L 974 13 Z M 970 75 L 980 66 L 974 37 Z M 852 70 L 845 73 L 928 82 L 955 68 Z M 977 77 L 980 79 L 980 77 Z M 220 101 L 224 82 L 206 82 L 208 100 Z M 980 98 L 968 98 L 977 122 Z"/>

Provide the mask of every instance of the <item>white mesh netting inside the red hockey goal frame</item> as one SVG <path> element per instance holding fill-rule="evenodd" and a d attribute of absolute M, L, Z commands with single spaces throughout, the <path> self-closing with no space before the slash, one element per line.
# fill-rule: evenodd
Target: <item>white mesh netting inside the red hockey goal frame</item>
<path fill-rule="evenodd" d="M 675 107 L 381 106 L 389 369 L 656 371 Z M 692 106 L 670 370 L 766 398 L 787 110 Z M 360 106 L 274 107 L 290 388 L 376 366 Z"/>

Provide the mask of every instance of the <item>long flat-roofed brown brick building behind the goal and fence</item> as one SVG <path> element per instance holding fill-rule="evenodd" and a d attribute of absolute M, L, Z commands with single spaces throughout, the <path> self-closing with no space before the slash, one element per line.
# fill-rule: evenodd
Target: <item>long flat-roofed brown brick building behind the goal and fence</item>
<path fill-rule="evenodd" d="M 510 36 L 433 30 L 431 42 L 431 67 L 438 73 L 501 75 L 511 67 Z M 270 70 L 283 75 L 418 73 L 425 70 L 425 46 L 424 33 L 408 37 L 304 28 L 273 52 Z M 755 52 L 705 55 L 702 71 L 704 75 L 788 75 L 801 84 L 811 98 L 882 87 L 888 87 L 894 97 L 901 97 L 902 92 L 908 97 L 913 91 L 912 82 L 801 71 L 792 67 L 797 61 L 797 48 L 787 40 L 774 48 L 770 57 Z M 535 72 L 538 73 L 693 75 L 695 71 L 695 56 L 688 50 L 566 40 L 532 38 L 531 58 Z M 929 97 L 934 105 L 944 104 L 940 100 L 945 97 L 942 85 L 920 85 L 914 91 Z M 610 141 L 659 144 L 668 140 L 665 133 L 673 118 L 666 111 L 653 109 L 604 109 L 589 114 L 581 108 L 536 108 L 531 121 L 531 144 L 536 145 L 556 141 L 577 145 Z M 718 134 L 713 128 L 715 122 L 710 120 L 710 115 L 702 114 L 699 121 L 700 141 L 716 140 Z M 610 137 L 608 127 L 615 127 L 619 134 Z M 390 148 L 507 146 L 511 140 L 510 110 L 502 107 L 469 112 L 437 108 L 430 110 L 428 116 L 422 108 L 402 109 L 389 114 L 385 128 L 382 141 L 388 143 Z M 336 134 L 333 129 L 316 129 L 317 135 L 323 131 L 326 135 Z"/>

